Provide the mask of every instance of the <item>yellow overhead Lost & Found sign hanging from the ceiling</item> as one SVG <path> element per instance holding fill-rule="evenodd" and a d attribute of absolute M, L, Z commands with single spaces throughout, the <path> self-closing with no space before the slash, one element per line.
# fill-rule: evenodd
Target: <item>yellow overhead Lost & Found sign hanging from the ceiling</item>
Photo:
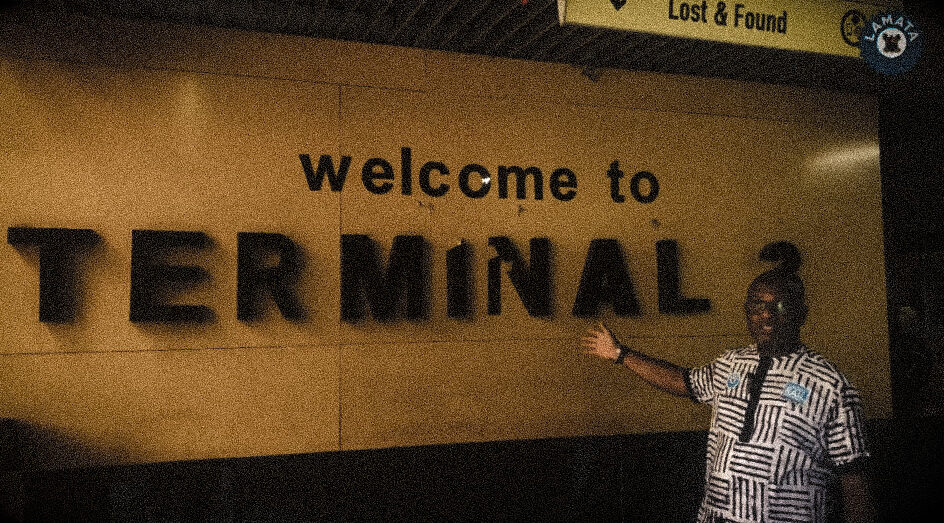
<path fill-rule="evenodd" d="M 558 0 L 560 23 L 859 56 L 859 35 L 887 5 L 828 0 Z"/>

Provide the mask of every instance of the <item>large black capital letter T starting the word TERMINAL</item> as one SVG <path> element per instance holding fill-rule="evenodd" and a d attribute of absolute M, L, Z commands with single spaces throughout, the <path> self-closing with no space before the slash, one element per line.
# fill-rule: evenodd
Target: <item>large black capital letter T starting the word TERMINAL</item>
<path fill-rule="evenodd" d="M 78 258 L 99 241 L 91 229 L 10 227 L 7 243 L 39 249 L 39 321 L 75 320 L 78 308 Z"/>

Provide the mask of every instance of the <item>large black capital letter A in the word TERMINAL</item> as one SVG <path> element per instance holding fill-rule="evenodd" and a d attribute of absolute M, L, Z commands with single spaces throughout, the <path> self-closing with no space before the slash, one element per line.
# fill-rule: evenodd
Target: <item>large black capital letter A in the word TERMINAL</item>
<path fill-rule="evenodd" d="M 619 242 L 611 238 L 590 242 L 572 314 L 579 318 L 592 318 L 607 304 L 613 307 L 617 316 L 640 314 L 623 250 Z"/>

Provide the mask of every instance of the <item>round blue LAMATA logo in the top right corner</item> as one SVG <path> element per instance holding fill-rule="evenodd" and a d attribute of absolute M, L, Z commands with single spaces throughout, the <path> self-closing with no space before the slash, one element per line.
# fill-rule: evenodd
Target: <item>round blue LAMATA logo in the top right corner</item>
<path fill-rule="evenodd" d="M 873 69 L 888 75 L 910 71 L 918 63 L 924 36 L 903 13 L 885 13 L 872 18 L 861 29 L 859 50 Z"/>

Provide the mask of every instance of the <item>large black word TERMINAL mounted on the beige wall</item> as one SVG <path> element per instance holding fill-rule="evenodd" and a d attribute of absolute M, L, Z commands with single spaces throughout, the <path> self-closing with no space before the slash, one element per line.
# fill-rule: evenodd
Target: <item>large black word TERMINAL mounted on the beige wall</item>
<path fill-rule="evenodd" d="M 213 240 L 198 231 L 131 231 L 130 321 L 135 323 L 208 323 L 215 311 L 202 304 L 179 304 L 174 295 L 181 289 L 198 286 L 211 278 L 203 267 L 170 261 L 180 251 L 211 248 Z M 17 249 L 39 252 L 39 321 L 67 323 L 75 319 L 76 289 L 82 274 L 76 258 L 79 247 L 90 247 L 99 235 L 89 229 L 10 227 L 7 242 Z M 295 283 L 304 266 L 301 250 L 278 233 L 240 232 L 235 289 L 237 319 L 258 318 L 267 304 L 278 308 L 282 317 L 302 321 L 306 307 L 298 298 Z M 526 260 L 510 238 L 489 238 L 489 315 L 502 312 L 502 274 L 507 267 L 513 290 L 528 314 L 552 316 L 553 272 L 550 267 L 551 242 L 531 238 Z M 86 249 L 87 250 L 87 249 Z M 429 244 L 419 235 L 399 235 L 384 260 L 377 244 L 368 235 L 342 234 L 340 318 L 358 323 L 371 318 L 381 322 L 429 318 L 431 272 Z M 679 246 L 672 239 L 656 243 L 659 312 L 696 314 L 711 309 L 708 298 L 682 295 Z M 274 254 L 273 264 L 266 255 Z M 463 242 L 446 255 L 449 316 L 468 317 L 472 313 L 472 286 L 469 265 L 472 248 Z M 777 260 L 773 260 L 777 261 Z M 633 279 L 627 270 L 619 241 L 591 240 L 583 264 L 580 287 L 571 314 L 594 317 L 604 307 L 617 316 L 638 316 L 639 302 Z"/>

